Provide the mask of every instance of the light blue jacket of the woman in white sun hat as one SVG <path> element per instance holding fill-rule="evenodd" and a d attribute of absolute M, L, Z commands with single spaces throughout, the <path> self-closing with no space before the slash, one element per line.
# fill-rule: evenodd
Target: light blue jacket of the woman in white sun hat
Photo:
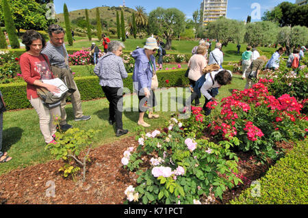
<path fill-rule="evenodd" d="M 133 86 L 140 91 L 144 87 L 151 90 L 153 70 L 150 66 L 148 57 L 146 57 L 144 49 L 136 49 L 131 56 L 135 59 L 135 69 L 133 70 Z M 153 68 L 156 72 L 155 57 L 150 56 Z"/>

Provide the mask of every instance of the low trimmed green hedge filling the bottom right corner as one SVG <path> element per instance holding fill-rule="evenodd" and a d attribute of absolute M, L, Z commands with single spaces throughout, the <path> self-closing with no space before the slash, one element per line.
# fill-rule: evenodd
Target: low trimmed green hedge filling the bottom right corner
<path fill-rule="evenodd" d="M 256 188 L 251 187 L 230 204 L 307 204 L 307 144 L 308 139 L 298 142 L 259 179 L 260 197 L 252 196 Z"/>

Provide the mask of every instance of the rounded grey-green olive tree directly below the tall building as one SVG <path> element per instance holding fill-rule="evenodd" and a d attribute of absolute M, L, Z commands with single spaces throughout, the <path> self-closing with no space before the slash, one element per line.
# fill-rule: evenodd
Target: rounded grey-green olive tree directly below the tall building
<path fill-rule="evenodd" d="M 217 39 L 222 46 L 229 42 L 242 42 L 244 39 L 244 22 L 220 17 L 217 21 L 209 23 L 207 37 Z"/>

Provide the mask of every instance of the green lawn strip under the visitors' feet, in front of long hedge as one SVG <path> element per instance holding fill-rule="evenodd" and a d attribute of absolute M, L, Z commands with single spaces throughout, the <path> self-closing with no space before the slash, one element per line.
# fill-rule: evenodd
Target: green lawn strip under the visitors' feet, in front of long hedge
<path fill-rule="evenodd" d="M 244 81 L 240 79 L 240 75 L 234 75 L 232 83 L 220 89 L 218 99 L 229 96 L 233 89 L 243 90 L 244 85 Z M 159 96 L 159 92 L 168 92 L 168 90 L 157 91 L 155 95 Z M 164 98 L 164 96 L 162 96 L 162 98 Z M 170 105 L 172 105 L 172 107 L 177 105 L 175 96 L 170 96 L 169 99 L 169 108 Z M 201 98 L 201 103 L 204 103 L 204 97 Z M 85 130 L 91 128 L 100 129 L 102 132 L 99 135 L 99 140 L 94 141 L 94 147 L 117 141 L 119 138 L 115 137 L 114 128 L 110 128 L 107 122 L 109 116 L 108 105 L 106 98 L 83 102 L 82 108 L 84 114 L 92 116 L 91 120 L 84 122 L 75 122 L 72 105 L 66 105 L 68 124 Z M 138 112 L 133 111 L 137 109 L 136 105 L 138 105 L 138 98 L 136 95 L 125 96 L 125 107 L 130 108 L 131 111 L 125 111 L 123 113 L 123 127 L 129 129 L 129 134 L 123 137 L 138 134 L 138 130 L 136 130 Z M 160 105 L 162 105 L 162 103 Z M 166 104 L 164 106 L 166 106 Z M 181 104 L 178 106 L 182 107 Z M 164 127 L 165 121 L 170 118 L 170 113 L 174 113 L 174 111 L 170 111 L 169 109 L 168 111 L 157 113 L 160 115 L 157 120 L 148 120 L 148 118 L 145 118 L 145 121 L 152 125 L 150 128 L 146 129 L 147 131 Z M 49 154 L 49 151 L 44 150 L 44 147 L 44 139 L 38 125 L 38 115 L 34 109 L 7 111 L 4 113 L 3 150 L 8 151 L 8 154 L 12 156 L 13 159 L 8 163 L 0 164 L 0 174 L 10 172 L 12 169 L 44 163 L 53 159 L 53 156 Z"/>

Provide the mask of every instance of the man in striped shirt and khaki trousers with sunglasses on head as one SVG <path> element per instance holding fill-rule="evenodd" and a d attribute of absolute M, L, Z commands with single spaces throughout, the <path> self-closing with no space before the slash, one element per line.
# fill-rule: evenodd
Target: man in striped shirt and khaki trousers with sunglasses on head
<path fill-rule="evenodd" d="M 47 42 L 45 48 L 42 50 L 44 55 L 47 55 L 49 58 L 49 62 L 51 64 L 51 70 L 53 74 L 57 75 L 60 73 L 71 74 L 70 67 L 68 66 L 68 53 L 66 51 L 66 47 L 64 45 L 64 29 L 60 27 L 60 25 L 50 25 L 49 26 L 49 42 Z M 69 81 L 70 80 L 70 81 Z M 75 92 L 70 94 L 72 98 L 73 111 L 75 115 L 75 121 L 79 120 L 89 120 L 90 115 L 84 115 L 81 109 L 81 96 L 78 90 L 78 87 L 73 81 L 73 77 L 68 79 L 67 82 L 70 82 L 73 87 L 75 87 Z M 63 98 L 61 102 L 61 120 L 60 126 L 63 130 L 67 130 L 68 128 L 72 128 L 73 126 L 67 124 L 66 122 L 66 98 Z"/>

